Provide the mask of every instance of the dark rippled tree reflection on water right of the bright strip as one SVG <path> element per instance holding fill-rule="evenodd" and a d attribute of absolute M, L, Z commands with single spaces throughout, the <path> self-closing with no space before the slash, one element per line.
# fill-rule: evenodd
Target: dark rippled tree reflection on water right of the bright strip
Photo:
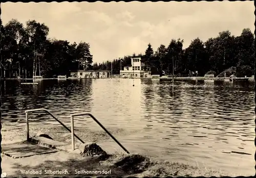
<path fill-rule="evenodd" d="M 186 120 L 193 123 L 207 119 L 207 124 L 213 125 L 223 120 L 236 120 L 239 124 L 252 117 L 248 115 L 253 112 L 254 82 L 180 81 L 173 84 L 148 80 L 142 83 L 145 84 L 142 102 L 147 112 L 144 118 L 150 122 Z"/>

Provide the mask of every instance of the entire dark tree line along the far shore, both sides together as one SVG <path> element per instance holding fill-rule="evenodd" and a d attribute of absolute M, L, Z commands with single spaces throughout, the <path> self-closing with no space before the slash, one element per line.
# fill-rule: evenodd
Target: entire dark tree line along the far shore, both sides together
<path fill-rule="evenodd" d="M 120 69 L 131 65 L 131 56 L 113 61 L 106 60 L 93 64 L 90 44 L 86 42 L 70 43 L 48 37 L 49 28 L 44 23 L 28 20 L 26 26 L 16 19 L 5 26 L 1 22 L 1 72 L 4 77 L 22 75 L 32 78 L 42 75 L 69 75 L 70 70 Z M 191 41 L 183 49 L 184 40 L 172 39 L 168 46 L 161 44 L 155 51 L 151 43 L 144 54 L 145 64 L 152 74 L 174 74 L 179 76 L 215 74 L 236 74 L 250 76 L 254 72 L 254 35 L 250 29 L 244 29 L 240 36 L 229 31 L 220 32 L 215 38 L 203 42 L 199 38 Z"/>

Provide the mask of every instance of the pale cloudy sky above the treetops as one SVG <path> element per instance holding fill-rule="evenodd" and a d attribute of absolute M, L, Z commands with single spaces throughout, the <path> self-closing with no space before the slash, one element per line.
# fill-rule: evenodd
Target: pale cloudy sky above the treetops
<path fill-rule="evenodd" d="M 1 3 L 1 18 L 26 24 L 45 23 L 49 38 L 90 43 L 94 62 L 144 54 L 172 39 L 184 40 L 183 48 L 199 37 L 206 41 L 229 30 L 239 36 L 244 28 L 254 32 L 254 4 L 247 2 L 62 2 Z"/>

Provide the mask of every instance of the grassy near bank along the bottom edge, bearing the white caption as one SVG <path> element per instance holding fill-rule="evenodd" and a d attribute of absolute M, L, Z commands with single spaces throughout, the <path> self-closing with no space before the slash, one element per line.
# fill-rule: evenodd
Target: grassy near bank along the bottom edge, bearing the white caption
<path fill-rule="evenodd" d="M 2 155 L 3 162 L 2 170 L 7 172 L 10 177 L 54 177 L 54 176 L 224 176 L 221 171 L 207 169 L 206 167 L 199 168 L 185 164 L 157 162 L 151 160 L 150 157 L 142 155 L 110 155 L 108 159 L 102 160 L 97 157 L 80 157 L 75 154 L 67 154 L 66 152 L 56 152 L 54 154 L 33 156 L 23 159 L 12 159 Z M 42 170 L 42 174 L 36 173 L 25 174 L 21 170 Z M 50 174 L 45 173 L 45 170 L 57 171 L 67 170 L 68 174 Z M 109 173 L 81 173 L 77 174 L 78 170 L 87 171 L 110 171 Z"/>

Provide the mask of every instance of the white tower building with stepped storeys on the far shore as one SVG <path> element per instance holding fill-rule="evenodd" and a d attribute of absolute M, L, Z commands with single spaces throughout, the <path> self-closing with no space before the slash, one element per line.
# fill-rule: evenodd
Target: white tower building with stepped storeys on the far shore
<path fill-rule="evenodd" d="M 150 69 L 144 70 L 145 64 L 141 60 L 142 57 L 132 57 L 132 65 L 124 66 L 123 70 L 120 70 L 120 78 L 151 78 Z"/>

